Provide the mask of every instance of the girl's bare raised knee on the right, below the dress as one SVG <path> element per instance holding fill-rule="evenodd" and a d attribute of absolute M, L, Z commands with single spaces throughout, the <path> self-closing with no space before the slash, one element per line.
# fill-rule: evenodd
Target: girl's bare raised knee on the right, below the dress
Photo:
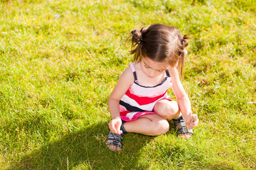
<path fill-rule="evenodd" d="M 171 119 L 172 116 L 179 113 L 179 106 L 176 101 L 161 100 L 155 105 L 155 111 L 160 116 Z"/>

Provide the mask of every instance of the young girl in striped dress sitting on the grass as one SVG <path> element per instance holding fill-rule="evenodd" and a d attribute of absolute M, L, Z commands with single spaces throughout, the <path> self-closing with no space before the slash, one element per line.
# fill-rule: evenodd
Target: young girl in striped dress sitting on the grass
<path fill-rule="evenodd" d="M 160 135 L 169 130 L 167 120 L 176 125 L 177 136 L 189 138 L 199 120 L 180 82 L 187 35 L 164 24 L 131 32 L 134 63 L 123 71 L 109 97 L 109 135 L 106 145 L 122 150 L 123 135 L 128 132 Z M 167 95 L 172 87 L 176 101 Z M 181 114 L 182 113 L 182 114 Z M 183 118 L 184 117 L 184 118 Z"/>

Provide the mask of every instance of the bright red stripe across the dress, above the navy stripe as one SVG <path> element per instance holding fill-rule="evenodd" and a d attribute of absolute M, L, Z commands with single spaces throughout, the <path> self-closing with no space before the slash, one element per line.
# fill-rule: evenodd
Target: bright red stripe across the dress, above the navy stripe
<path fill-rule="evenodd" d="M 134 94 L 131 94 L 130 90 L 127 90 L 125 95 L 130 97 L 131 99 L 135 100 L 139 105 L 145 105 L 145 104 L 153 103 L 154 101 L 160 99 L 161 97 L 166 95 L 166 92 L 164 92 L 162 95 L 159 95 L 159 96 L 156 96 L 156 97 L 139 97 L 139 96 L 136 96 Z"/>

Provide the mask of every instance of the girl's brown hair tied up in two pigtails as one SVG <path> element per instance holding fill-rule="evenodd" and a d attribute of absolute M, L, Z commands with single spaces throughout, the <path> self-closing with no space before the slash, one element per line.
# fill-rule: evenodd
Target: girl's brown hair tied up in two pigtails
<path fill-rule="evenodd" d="M 130 54 L 134 54 L 134 61 L 141 61 L 143 57 L 148 57 L 156 62 L 167 62 L 171 67 L 177 65 L 182 76 L 184 48 L 188 45 L 188 35 L 182 36 L 179 29 L 175 27 L 152 24 L 148 28 L 131 31 L 128 39 L 130 37 Z"/>

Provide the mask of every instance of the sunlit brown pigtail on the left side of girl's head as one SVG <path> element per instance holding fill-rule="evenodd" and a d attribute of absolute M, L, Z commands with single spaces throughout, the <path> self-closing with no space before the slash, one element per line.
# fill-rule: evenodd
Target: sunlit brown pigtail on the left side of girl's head
<path fill-rule="evenodd" d="M 130 36 L 126 39 L 131 42 L 130 54 L 134 54 L 134 61 L 140 61 L 142 57 L 142 44 L 143 44 L 143 33 L 146 31 L 146 27 L 142 29 L 134 29 L 131 31 Z"/>

